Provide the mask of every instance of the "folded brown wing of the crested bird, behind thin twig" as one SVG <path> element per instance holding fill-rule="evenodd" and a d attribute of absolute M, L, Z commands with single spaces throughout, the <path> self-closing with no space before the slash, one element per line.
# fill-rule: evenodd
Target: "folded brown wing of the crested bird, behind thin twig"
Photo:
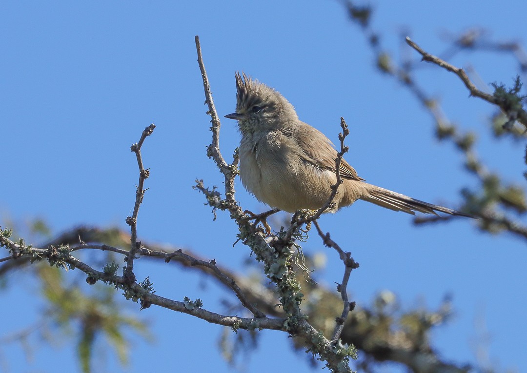
<path fill-rule="evenodd" d="M 299 131 L 295 133 L 298 142 L 306 144 L 301 146 L 304 152 L 304 160 L 311 162 L 322 169 L 335 172 L 335 159 L 337 158 L 337 151 L 333 143 L 315 127 L 301 122 Z M 321 141 L 321 139 L 323 139 Z M 340 162 L 340 176 L 343 179 L 363 181 L 364 179 L 357 175 L 357 171 L 349 165 L 344 159 Z"/>

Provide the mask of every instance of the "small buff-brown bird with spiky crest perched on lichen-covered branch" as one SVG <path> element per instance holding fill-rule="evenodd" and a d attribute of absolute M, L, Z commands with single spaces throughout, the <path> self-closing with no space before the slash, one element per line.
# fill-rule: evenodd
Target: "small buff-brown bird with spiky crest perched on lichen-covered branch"
<path fill-rule="evenodd" d="M 241 134 L 239 174 L 243 186 L 271 208 L 295 213 L 318 210 L 337 182 L 333 143 L 315 127 L 302 122 L 294 106 L 272 87 L 236 72 L 236 112 Z M 420 201 L 367 183 L 344 159 L 343 183 L 325 212 L 334 213 L 357 200 L 409 214 L 442 212 L 469 214 Z"/>

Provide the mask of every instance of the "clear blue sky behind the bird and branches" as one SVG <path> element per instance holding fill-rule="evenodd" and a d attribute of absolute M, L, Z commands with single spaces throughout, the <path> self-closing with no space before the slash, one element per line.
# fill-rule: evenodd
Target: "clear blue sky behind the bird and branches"
<path fill-rule="evenodd" d="M 497 40 L 522 44 L 527 34 L 527 25 L 517 21 L 527 12 L 520 1 L 373 5 L 372 26 L 394 58 L 412 53 L 402 41 L 403 30 L 436 54 L 448 47 L 442 35 L 473 26 L 485 27 Z M 219 114 L 233 112 L 234 73 L 245 71 L 279 90 L 301 120 L 334 142 L 343 116 L 351 131 L 346 159 L 370 183 L 452 208 L 463 186 L 476 185 L 452 146 L 434 140 L 433 123 L 411 94 L 376 72 L 363 34 L 336 1 L 9 1 L 0 4 L 0 21 L 2 225 L 8 218 L 41 217 L 57 233 L 80 223 L 125 228 L 137 182 L 129 148 L 145 126 L 155 123 L 143 146 L 151 177 L 138 221 L 141 238 L 188 247 L 242 270 L 249 251 L 241 244 L 232 247 L 236 226 L 223 213 L 213 222 L 203 196 L 191 189 L 196 178 L 221 186 L 205 153 L 210 124 L 194 35 L 200 35 Z M 517 71 L 514 58 L 490 52 L 458 54 L 451 62 L 473 66 L 487 84 L 510 83 Z M 435 66 L 423 63 L 418 78 L 441 97 L 452 121 L 479 133 L 477 152 L 489 168 L 523 186 L 524 144 L 489 136 L 493 108 L 469 98 L 454 75 Z M 223 120 L 223 154 L 229 157 L 238 141 L 235 122 Z M 237 195 L 244 209 L 265 209 L 239 183 Z M 361 264 L 350 279 L 353 300 L 367 305 L 378 291 L 389 289 L 403 307 L 434 308 L 450 293 L 455 316 L 433 334 L 441 356 L 474 363 L 483 345 L 495 367 L 527 370 L 524 242 L 481 234 L 468 219 L 421 228 L 411 221 L 409 215 L 365 202 L 321 218 L 323 229 Z M 341 262 L 315 235 L 304 250 L 326 253 L 321 282 L 339 281 Z M 196 274 L 143 262 L 136 266 L 151 275 L 160 295 L 201 298 L 207 309 L 222 312 L 219 300 L 225 293 L 211 283 L 203 289 Z M 41 301 L 30 279 L 14 276 L 16 289 L 0 295 L 8 305 L 0 308 L 0 318 L 12 320 L 17 312 L 31 320 Z M 133 306 L 130 312 L 137 314 Z M 100 371 L 231 371 L 217 349 L 220 327 L 155 307 L 139 316 L 152 320 L 154 343 L 137 339 L 126 368 L 101 348 L 107 359 Z M 25 325 L 25 320 L 12 321 L 2 323 L 0 336 Z M 482 322 L 487 342 L 478 326 Z M 78 371 L 71 343 L 43 346 L 27 361 L 21 348 L 10 346 L 2 348 L 0 358 L 12 372 L 55 371 L 57 356 L 63 370 Z M 262 333 L 247 371 L 291 366 L 308 369 L 283 333 L 269 331 Z"/>

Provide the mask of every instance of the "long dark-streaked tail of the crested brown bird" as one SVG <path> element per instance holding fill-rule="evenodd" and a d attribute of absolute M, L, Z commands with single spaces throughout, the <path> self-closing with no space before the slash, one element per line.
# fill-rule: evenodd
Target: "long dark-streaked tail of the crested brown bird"
<path fill-rule="evenodd" d="M 416 200 L 407 195 L 392 192 L 384 188 L 379 188 L 372 184 L 368 184 L 368 195 L 363 195 L 360 199 L 368 202 L 375 203 L 381 207 L 391 209 L 394 211 L 404 211 L 406 213 L 415 215 L 415 212 L 423 212 L 425 214 L 435 214 L 438 212 L 444 212 L 451 215 L 459 215 L 467 218 L 474 218 L 472 215 L 465 214 L 460 211 L 448 209 L 443 206 L 439 206 L 432 203 Z"/>

